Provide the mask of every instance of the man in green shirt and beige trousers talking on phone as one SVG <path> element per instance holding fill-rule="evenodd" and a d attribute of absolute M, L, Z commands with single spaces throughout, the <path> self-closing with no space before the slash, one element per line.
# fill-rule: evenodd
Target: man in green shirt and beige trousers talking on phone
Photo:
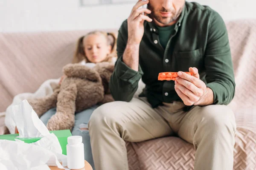
<path fill-rule="evenodd" d="M 144 4 L 148 9 L 139 8 Z M 110 82 L 116 101 L 96 109 L 89 123 L 96 170 L 128 170 L 125 141 L 173 134 L 194 144 L 195 170 L 232 170 L 236 122 L 227 104 L 235 82 L 221 16 L 185 0 L 139 0 L 119 29 L 117 53 Z M 179 78 L 158 81 L 166 71 Z M 140 78 L 146 86 L 136 99 Z"/>

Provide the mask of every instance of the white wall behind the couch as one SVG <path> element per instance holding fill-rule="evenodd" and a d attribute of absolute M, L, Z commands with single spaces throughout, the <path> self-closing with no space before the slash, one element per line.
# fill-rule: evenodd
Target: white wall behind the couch
<path fill-rule="evenodd" d="M 254 0 L 196 1 L 211 6 L 224 20 L 256 17 Z M 134 4 L 79 5 L 79 0 L 0 0 L 0 32 L 119 28 Z"/>

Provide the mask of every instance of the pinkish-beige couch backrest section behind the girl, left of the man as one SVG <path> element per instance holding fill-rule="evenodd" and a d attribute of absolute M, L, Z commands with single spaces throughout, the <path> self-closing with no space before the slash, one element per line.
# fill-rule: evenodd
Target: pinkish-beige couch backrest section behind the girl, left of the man
<path fill-rule="evenodd" d="M 59 78 L 73 59 L 76 41 L 88 31 L 0 33 L 0 112 L 15 95 Z"/>

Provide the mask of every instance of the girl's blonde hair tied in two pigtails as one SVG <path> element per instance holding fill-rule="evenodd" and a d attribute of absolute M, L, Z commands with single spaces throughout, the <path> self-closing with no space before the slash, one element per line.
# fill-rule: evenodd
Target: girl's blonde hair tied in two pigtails
<path fill-rule="evenodd" d="M 80 37 L 77 41 L 76 51 L 73 57 L 72 63 L 81 62 L 85 59 L 85 62 L 89 62 L 84 52 L 84 38 L 91 34 L 102 34 L 106 37 L 108 45 L 111 45 L 111 54 L 109 54 L 104 61 L 111 62 L 113 57 L 116 57 L 116 36 L 113 33 L 104 32 L 104 31 L 92 31 L 88 34 Z"/>

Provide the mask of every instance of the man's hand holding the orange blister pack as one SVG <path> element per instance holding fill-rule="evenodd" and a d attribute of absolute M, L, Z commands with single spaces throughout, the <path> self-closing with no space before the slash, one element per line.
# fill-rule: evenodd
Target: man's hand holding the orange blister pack
<path fill-rule="evenodd" d="M 175 91 L 185 105 L 200 105 L 202 103 L 200 99 L 207 94 L 207 87 L 200 79 L 197 68 L 191 67 L 189 71 L 193 73 L 193 76 L 182 71 L 178 72 L 178 77 L 175 80 Z"/>

